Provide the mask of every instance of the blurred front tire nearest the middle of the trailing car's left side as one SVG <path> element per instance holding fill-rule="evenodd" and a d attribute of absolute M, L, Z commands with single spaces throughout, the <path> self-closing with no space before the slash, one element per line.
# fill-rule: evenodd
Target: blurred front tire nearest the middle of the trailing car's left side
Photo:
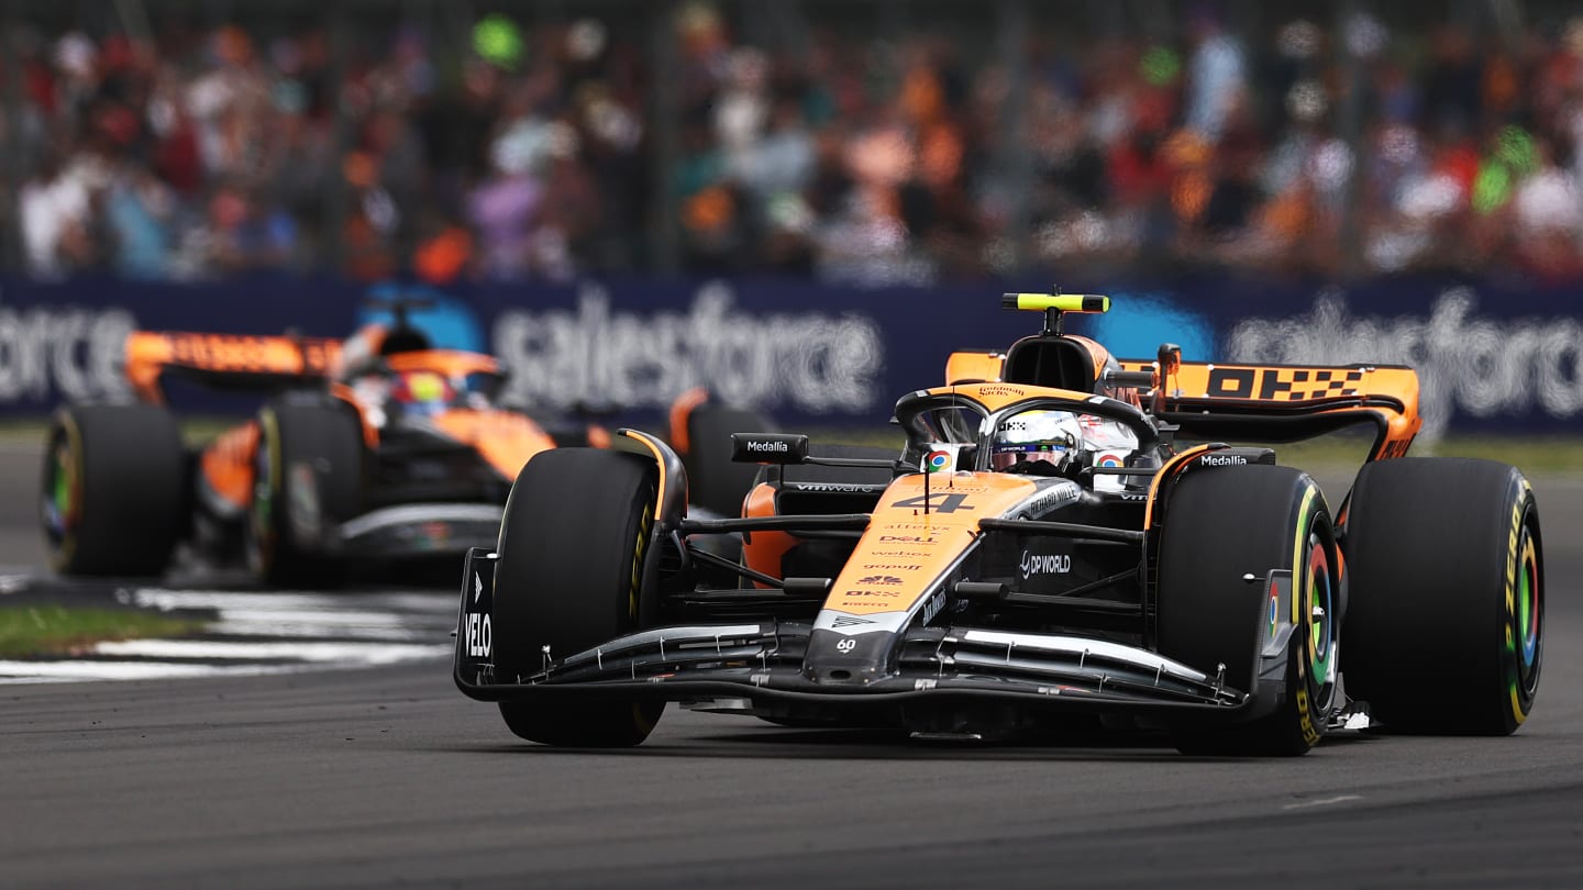
<path fill-rule="evenodd" d="M 363 424 L 345 404 L 274 402 L 258 413 L 247 564 L 271 588 L 337 588 L 326 537 L 363 508 Z"/>

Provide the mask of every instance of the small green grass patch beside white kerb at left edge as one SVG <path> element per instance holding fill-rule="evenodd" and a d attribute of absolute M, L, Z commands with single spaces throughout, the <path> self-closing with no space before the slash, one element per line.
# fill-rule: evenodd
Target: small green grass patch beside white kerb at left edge
<path fill-rule="evenodd" d="M 0 657 L 71 654 L 104 640 L 184 637 L 201 629 L 201 621 L 133 610 L 0 607 Z"/>

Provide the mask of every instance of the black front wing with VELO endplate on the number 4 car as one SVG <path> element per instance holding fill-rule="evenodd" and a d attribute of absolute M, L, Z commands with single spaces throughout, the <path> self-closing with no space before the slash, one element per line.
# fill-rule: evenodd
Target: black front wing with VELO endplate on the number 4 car
<path fill-rule="evenodd" d="M 912 627 L 888 641 L 893 671 L 864 681 L 815 679 L 803 656 L 809 621 L 736 621 L 655 627 L 583 652 L 537 652 L 530 673 L 507 676 L 494 659 L 494 565 L 469 551 L 456 633 L 456 686 L 484 702 L 625 698 L 679 702 L 695 709 L 766 717 L 872 719 L 886 708 L 1010 706 L 1019 713 L 1088 711 L 1168 719 L 1244 721 L 1285 695 L 1287 627 L 1255 651 L 1265 627 L 1249 627 L 1255 689 L 1157 652 L 1091 637 L 974 627 Z M 1290 573 L 1271 581 L 1290 602 Z M 1263 618 L 1263 616 L 1260 616 Z M 828 671 L 826 671 L 828 673 Z"/>

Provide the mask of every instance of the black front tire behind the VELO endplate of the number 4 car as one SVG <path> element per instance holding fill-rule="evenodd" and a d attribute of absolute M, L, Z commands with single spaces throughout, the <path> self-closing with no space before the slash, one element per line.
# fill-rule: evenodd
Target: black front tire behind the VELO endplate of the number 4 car
<path fill-rule="evenodd" d="M 495 675 L 538 673 L 549 657 L 594 648 L 652 621 L 646 559 L 654 529 L 652 462 L 621 451 L 557 448 L 522 467 L 500 521 L 492 630 Z M 630 747 L 663 702 L 502 702 L 521 738 Z"/>

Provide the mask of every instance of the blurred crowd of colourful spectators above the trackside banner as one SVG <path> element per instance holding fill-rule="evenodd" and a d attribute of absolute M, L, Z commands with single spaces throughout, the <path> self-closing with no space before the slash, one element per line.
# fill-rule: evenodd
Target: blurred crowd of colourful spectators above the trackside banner
<path fill-rule="evenodd" d="M 1583 279 L 1583 16 L 1173 5 L 1156 38 L 1035 16 L 1018 55 L 924 16 L 766 46 L 733 10 L 684 3 L 662 41 L 614 14 L 24 27 L 25 269 Z"/>

